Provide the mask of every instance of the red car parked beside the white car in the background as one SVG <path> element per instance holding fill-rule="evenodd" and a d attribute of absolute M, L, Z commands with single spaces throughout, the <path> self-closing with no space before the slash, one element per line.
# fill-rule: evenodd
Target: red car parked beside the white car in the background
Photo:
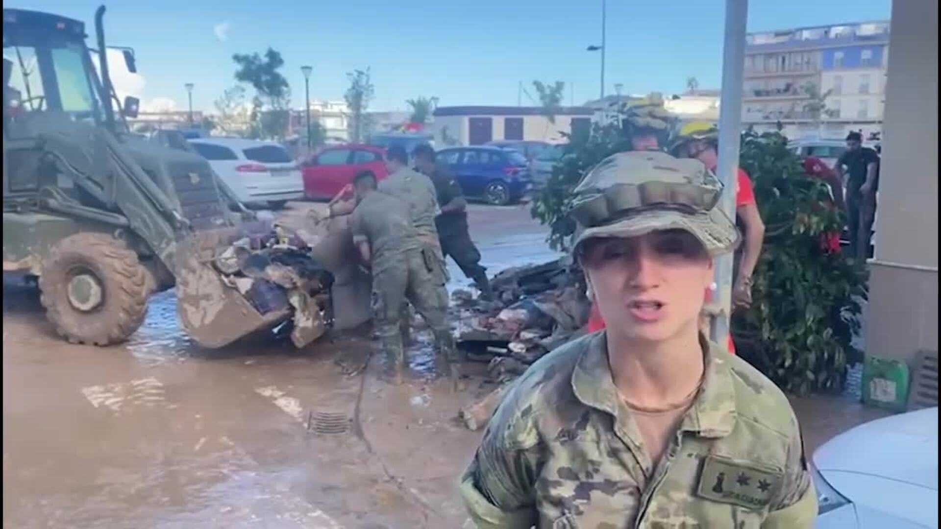
<path fill-rule="evenodd" d="M 327 147 L 301 164 L 304 194 L 308 200 L 330 200 L 363 170 L 373 171 L 376 178 L 382 180 L 389 174 L 384 155 L 384 149 L 371 145 Z"/>

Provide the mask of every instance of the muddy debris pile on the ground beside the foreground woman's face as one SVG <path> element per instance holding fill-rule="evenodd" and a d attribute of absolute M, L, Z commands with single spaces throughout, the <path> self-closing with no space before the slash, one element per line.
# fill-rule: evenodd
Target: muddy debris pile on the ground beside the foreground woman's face
<path fill-rule="evenodd" d="M 518 266 L 491 281 L 494 299 L 475 300 L 467 291 L 452 295 L 461 311 L 457 344 L 470 361 L 488 362 L 497 390 L 461 409 L 470 429 L 486 425 L 506 385 L 534 361 L 582 334 L 591 310 L 581 276 L 570 260 Z"/>

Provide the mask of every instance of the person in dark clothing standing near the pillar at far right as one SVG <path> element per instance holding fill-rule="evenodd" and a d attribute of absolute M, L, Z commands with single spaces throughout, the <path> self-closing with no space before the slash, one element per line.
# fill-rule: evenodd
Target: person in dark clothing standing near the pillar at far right
<path fill-rule="evenodd" d="M 845 168 L 845 169 L 844 169 Z M 879 189 L 879 154 L 863 147 L 863 136 L 846 136 L 846 152 L 834 168 L 846 182 L 847 230 L 852 255 L 860 261 L 869 256 L 872 221 L 876 215 L 876 191 Z"/>

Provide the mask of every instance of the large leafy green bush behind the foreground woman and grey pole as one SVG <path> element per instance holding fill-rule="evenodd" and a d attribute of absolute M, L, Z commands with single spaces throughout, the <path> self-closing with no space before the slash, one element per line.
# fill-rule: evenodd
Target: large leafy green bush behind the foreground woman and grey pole
<path fill-rule="evenodd" d="M 574 226 L 566 210 L 584 172 L 629 149 L 614 123 L 571 138 L 532 206 L 534 218 L 550 226 L 552 248 L 570 247 Z M 837 391 L 847 361 L 859 358 L 851 340 L 859 327 L 859 302 L 867 295 L 865 270 L 834 245 L 842 213 L 832 206 L 827 187 L 806 175 L 785 136 L 743 134 L 740 164 L 754 181 L 767 230 L 753 304 L 733 314 L 736 349 L 786 391 Z"/>

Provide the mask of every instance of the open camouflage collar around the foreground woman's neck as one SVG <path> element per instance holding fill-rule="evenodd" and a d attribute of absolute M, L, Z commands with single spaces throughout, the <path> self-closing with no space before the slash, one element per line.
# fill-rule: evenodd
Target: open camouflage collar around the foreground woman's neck
<path fill-rule="evenodd" d="M 735 426 L 735 389 L 727 352 L 700 337 L 703 345 L 705 371 L 702 390 L 695 397 L 680 426 L 702 437 L 721 438 Z M 604 332 L 589 339 L 588 347 L 575 364 L 571 378 L 572 391 L 586 406 L 618 415 L 620 397 L 614 387 L 608 363 L 608 343 Z"/>

